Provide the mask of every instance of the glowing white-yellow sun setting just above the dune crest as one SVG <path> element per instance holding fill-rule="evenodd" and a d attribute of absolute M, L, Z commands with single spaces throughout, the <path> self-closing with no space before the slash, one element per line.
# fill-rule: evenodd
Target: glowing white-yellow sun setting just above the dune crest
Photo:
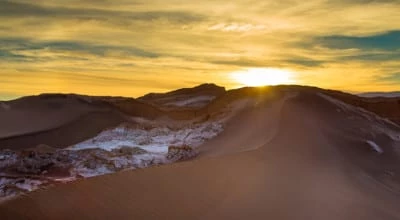
<path fill-rule="evenodd" d="M 245 86 L 292 84 L 292 72 L 278 68 L 250 68 L 233 72 L 231 77 Z"/>

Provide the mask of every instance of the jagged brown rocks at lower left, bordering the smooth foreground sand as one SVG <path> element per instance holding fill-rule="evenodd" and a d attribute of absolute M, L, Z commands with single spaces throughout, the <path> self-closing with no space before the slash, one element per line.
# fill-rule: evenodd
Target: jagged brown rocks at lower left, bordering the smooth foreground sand
<path fill-rule="evenodd" d="M 0 151 L 0 199 L 60 182 L 166 163 L 165 157 L 138 147 L 58 150 L 38 146 Z"/>

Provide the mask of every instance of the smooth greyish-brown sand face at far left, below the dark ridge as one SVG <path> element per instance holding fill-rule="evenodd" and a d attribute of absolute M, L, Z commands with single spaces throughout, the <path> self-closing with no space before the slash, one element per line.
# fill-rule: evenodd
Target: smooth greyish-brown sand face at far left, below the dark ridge
<path fill-rule="evenodd" d="M 3 102 L 0 108 L 0 138 L 56 128 L 95 110 L 95 107 L 76 97 L 62 95 L 32 96 Z"/>

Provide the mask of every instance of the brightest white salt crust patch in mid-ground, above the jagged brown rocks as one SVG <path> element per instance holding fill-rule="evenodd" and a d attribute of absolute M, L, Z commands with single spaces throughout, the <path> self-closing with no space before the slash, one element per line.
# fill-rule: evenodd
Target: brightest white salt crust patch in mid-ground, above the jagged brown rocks
<path fill-rule="evenodd" d="M 119 126 L 104 131 L 94 138 L 71 146 L 71 150 L 100 148 L 112 150 L 123 146 L 140 147 L 151 153 L 167 153 L 169 146 L 189 145 L 197 147 L 217 136 L 223 130 L 219 122 L 188 125 L 181 129 L 171 129 L 167 126 L 150 130 Z"/>

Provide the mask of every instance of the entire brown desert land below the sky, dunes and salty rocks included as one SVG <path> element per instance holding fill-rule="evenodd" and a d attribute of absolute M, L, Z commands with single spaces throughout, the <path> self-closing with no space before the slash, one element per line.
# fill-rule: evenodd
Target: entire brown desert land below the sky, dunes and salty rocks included
<path fill-rule="evenodd" d="M 0 103 L 1 219 L 400 219 L 400 98 L 214 84 Z"/>

